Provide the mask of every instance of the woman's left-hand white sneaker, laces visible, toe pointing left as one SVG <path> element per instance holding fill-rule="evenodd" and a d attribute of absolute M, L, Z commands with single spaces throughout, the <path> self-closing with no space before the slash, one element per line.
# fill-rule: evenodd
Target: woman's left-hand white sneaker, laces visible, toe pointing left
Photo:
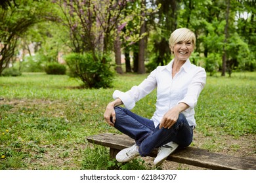
<path fill-rule="evenodd" d="M 120 163 L 131 161 L 131 159 L 139 156 L 139 150 L 137 149 L 137 145 L 134 144 L 129 148 L 125 148 L 117 153 L 116 160 Z"/>

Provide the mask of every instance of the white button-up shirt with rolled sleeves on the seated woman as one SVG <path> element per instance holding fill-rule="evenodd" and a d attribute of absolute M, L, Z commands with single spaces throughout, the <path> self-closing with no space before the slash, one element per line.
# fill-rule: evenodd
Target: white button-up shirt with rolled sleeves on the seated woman
<path fill-rule="evenodd" d="M 174 59 L 168 65 L 157 67 L 139 86 L 133 86 L 127 92 L 116 90 L 113 98 L 121 99 L 123 105 L 131 110 L 137 101 L 157 88 L 156 111 L 151 118 L 155 126 L 160 124 L 161 118 L 169 109 L 179 103 L 186 103 L 189 106 L 182 113 L 189 125 L 196 126 L 194 107 L 205 86 L 205 69 L 193 65 L 187 59 L 179 73 L 172 78 L 173 61 Z"/>

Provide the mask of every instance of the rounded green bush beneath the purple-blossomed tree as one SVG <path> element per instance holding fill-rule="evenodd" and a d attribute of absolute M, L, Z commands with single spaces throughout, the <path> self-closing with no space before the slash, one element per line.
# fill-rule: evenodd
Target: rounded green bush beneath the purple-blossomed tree
<path fill-rule="evenodd" d="M 80 78 L 87 88 L 112 87 L 114 73 L 110 70 L 110 57 L 72 53 L 64 59 L 70 69 L 70 76 Z"/>

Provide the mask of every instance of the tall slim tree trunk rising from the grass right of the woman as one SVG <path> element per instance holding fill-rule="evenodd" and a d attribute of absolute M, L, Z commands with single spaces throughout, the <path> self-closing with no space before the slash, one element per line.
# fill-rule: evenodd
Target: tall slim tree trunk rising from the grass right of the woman
<path fill-rule="evenodd" d="M 224 29 L 224 46 L 223 46 L 223 69 L 221 72 L 221 76 L 226 75 L 226 40 L 228 39 L 228 17 L 229 17 L 229 8 L 230 8 L 230 0 L 227 0 L 227 6 L 226 6 L 226 25 Z"/>

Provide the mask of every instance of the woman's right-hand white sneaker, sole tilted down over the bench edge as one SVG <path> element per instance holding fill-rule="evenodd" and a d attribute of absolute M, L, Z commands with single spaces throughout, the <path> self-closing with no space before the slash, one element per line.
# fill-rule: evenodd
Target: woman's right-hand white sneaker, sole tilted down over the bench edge
<path fill-rule="evenodd" d="M 158 155 L 156 156 L 154 160 L 154 165 L 159 166 L 165 159 L 174 152 L 179 144 L 176 144 L 175 142 L 169 142 L 167 144 L 164 144 L 158 149 Z"/>

